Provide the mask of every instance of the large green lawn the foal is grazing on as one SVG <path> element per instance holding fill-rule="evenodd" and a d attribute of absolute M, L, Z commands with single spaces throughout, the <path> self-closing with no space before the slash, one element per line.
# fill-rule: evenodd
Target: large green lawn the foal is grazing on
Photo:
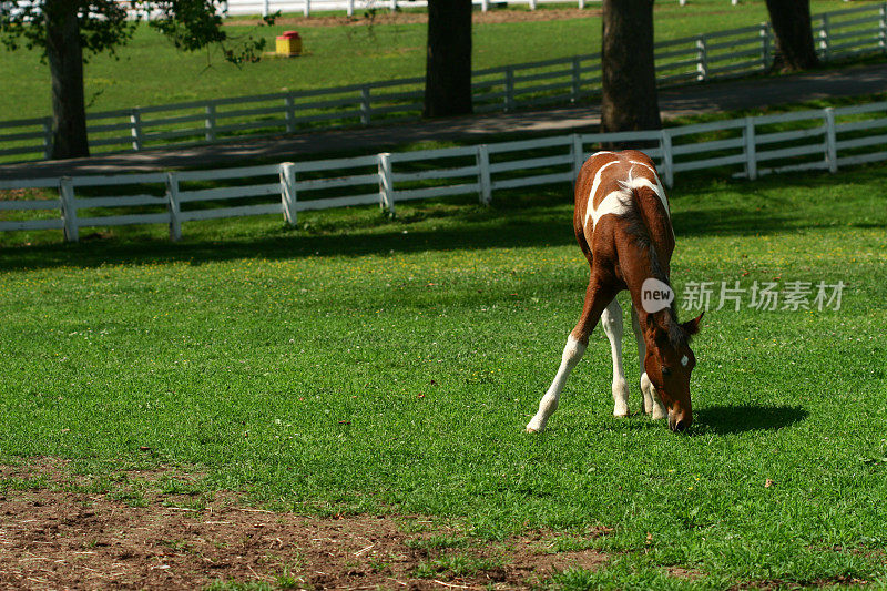
<path fill-rule="evenodd" d="M 180 244 L 6 234 L 0 459 L 109 480 L 173 463 L 278 510 L 428 514 L 483 539 L 544 527 L 555 549 L 611 553 L 553 587 L 887 584 L 885 173 L 679 177 L 679 294 L 846 284 L 837 312 L 756 310 L 748 293 L 711 309 L 681 436 L 611 416 L 600 328 L 549 430 L 523 432 L 587 281 L 568 185 L 394 221 L 213 222 Z"/>

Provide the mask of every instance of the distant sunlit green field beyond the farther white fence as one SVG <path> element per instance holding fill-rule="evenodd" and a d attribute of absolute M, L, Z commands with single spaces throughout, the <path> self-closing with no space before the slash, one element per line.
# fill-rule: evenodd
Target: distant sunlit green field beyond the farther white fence
<path fill-rule="evenodd" d="M 839 0 L 814 0 L 812 10 L 846 8 Z M 509 9 L 519 10 L 519 9 Z M 544 10 L 544 9 L 541 9 Z M 324 16 L 324 13 L 319 13 Z M 731 7 L 725 0 L 696 0 L 689 7 L 659 2 L 657 40 L 732 29 L 767 20 L 763 2 Z M 310 19 L 268 29 L 233 27 L 274 37 L 298 30 L 306 55 L 267 59 L 241 69 L 206 52 L 177 52 L 160 34 L 142 27 L 118 58 L 98 55 L 85 68 L 88 111 L 106 111 L 212 98 L 263 94 L 284 90 L 336 86 L 421 77 L 425 72 L 426 26 L 317 27 Z M 601 21 L 587 18 L 541 22 L 478 23 L 473 28 L 473 68 L 482 69 L 600 51 Z M 0 48 L 0 121 L 48 115 L 51 112 L 48 67 L 37 51 L 10 53 Z"/>

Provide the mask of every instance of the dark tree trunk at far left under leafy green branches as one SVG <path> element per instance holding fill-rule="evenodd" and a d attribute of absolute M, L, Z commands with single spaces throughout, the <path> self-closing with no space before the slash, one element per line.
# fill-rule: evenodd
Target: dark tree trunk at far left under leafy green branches
<path fill-rule="evenodd" d="M 48 0 L 44 4 L 47 57 L 52 77 L 53 160 L 90 155 L 77 10 L 73 0 Z"/>

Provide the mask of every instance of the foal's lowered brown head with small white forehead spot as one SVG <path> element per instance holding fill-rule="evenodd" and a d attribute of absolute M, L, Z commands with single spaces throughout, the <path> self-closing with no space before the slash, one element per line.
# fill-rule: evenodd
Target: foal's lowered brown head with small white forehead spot
<path fill-rule="evenodd" d="M 702 314 L 679 324 L 671 308 L 646 317 L 644 370 L 665 405 L 669 427 L 675 432 L 683 431 L 693 422 L 690 374 L 696 365 L 696 357 L 690 349 L 690 338 L 699 333 L 701 320 Z"/>

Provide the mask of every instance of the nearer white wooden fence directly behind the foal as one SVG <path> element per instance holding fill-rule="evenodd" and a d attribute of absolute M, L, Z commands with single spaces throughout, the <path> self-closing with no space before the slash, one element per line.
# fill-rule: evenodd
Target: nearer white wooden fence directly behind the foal
<path fill-rule="evenodd" d="M 750 116 L 661 131 L 573 134 L 442 150 L 238 169 L 0 181 L 3 190 L 54 187 L 58 198 L 0 201 L 0 231 L 169 224 L 179 240 L 185 223 L 379 204 L 394 212 L 408 200 L 477 195 L 569 183 L 594 146 L 630 142 L 657 162 L 667 186 L 675 174 L 710 171 L 761 174 L 828 170 L 887 160 L 887 102 Z M 106 195 L 112 191 L 113 195 Z M 50 212 L 34 218 L 34 212 Z M 18 216 L 16 220 L 13 217 Z"/>

